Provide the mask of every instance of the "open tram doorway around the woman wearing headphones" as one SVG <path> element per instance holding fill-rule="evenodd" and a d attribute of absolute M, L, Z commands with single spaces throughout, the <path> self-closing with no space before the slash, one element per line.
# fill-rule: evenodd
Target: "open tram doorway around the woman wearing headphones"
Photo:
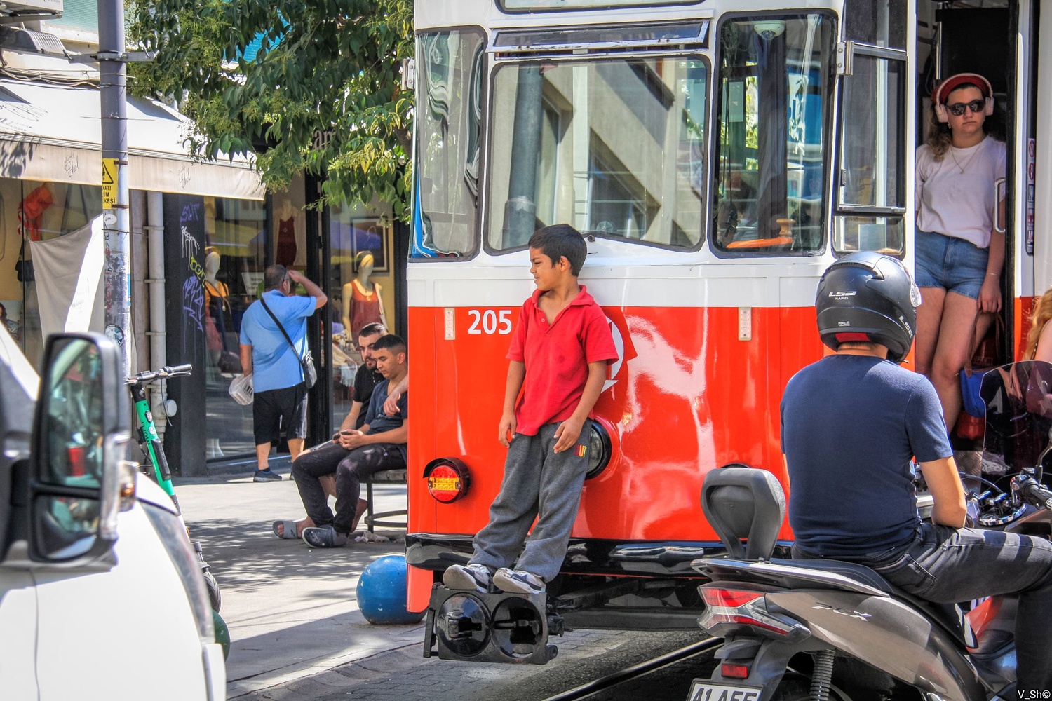
<path fill-rule="evenodd" d="M 1007 177 L 998 191 L 1006 203 L 998 226 L 1005 229 L 1002 316 L 1007 332 L 996 360 L 1005 363 L 1021 351 L 1020 334 L 1026 334 L 1034 295 L 1035 4 L 917 0 L 916 6 L 918 145 L 929 132 L 931 94 L 939 81 L 974 73 L 987 78 L 993 88 L 990 133 L 1005 142 L 1008 152 Z M 980 334 L 983 330 L 980 324 Z M 987 325 L 985 330 L 994 333 L 995 326 Z"/>

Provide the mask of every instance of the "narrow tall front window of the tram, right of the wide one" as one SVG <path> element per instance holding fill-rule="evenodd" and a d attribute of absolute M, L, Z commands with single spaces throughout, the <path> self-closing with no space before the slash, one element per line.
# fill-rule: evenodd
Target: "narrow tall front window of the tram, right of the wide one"
<path fill-rule="evenodd" d="M 820 14 L 721 25 L 713 247 L 822 250 L 834 29 Z"/>

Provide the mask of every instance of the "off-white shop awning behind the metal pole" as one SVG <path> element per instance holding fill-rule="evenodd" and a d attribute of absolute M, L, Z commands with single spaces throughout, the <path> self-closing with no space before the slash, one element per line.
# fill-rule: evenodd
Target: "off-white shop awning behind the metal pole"
<path fill-rule="evenodd" d="M 99 185 L 101 108 L 95 87 L 0 81 L 0 178 Z M 132 189 L 262 200 L 259 173 L 240 158 L 186 154 L 191 124 L 150 100 L 128 98 Z"/>

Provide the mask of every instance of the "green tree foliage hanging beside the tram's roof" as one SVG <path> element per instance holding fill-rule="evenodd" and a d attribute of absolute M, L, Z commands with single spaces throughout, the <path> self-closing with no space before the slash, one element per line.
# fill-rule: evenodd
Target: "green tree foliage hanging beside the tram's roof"
<path fill-rule="evenodd" d="M 326 198 L 376 195 L 406 215 L 412 0 L 129 0 L 127 17 L 129 38 L 157 51 L 129 66 L 132 90 L 176 101 L 197 125 L 193 153 L 266 143 L 257 165 L 269 187 L 325 172 Z"/>

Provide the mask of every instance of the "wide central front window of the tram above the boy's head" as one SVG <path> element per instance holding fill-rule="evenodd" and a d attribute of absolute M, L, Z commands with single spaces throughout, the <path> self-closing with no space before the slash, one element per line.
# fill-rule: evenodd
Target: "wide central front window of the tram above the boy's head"
<path fill-rule="evenodd" d="M 539 227 L 696 248 L 705 217 L 708 68 L 700 59 L 522 63 L 493 80 L 489 233 Z"/>

